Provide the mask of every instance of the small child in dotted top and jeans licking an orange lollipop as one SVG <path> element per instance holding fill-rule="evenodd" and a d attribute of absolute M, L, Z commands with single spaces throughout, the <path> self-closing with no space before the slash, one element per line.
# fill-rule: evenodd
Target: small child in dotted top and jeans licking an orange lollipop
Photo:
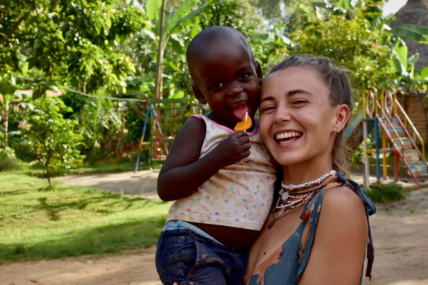
<path fill-rule="evenodd" d="M 241 285 L 276 180 L 276 162 L 254 118 L 262 70 L 244 35 L 227 26 L 196 35 L 186 58 L 193 93 L 211 112 L 190 117 L 160 170 L 159 197 L 176 201 L 156 268 L 165 285 Z M 252 127 L 235 132 L 247 112 Z"/>

